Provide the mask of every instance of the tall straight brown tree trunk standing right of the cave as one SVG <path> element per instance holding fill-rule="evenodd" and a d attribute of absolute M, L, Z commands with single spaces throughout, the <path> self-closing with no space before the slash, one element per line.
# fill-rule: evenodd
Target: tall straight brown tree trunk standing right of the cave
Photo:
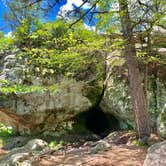
<path fill-rule="evenodd" d="M 127 0 L 119 0 L 119 7 L 122 31 L 125 39 L 125 57 L 129 72 L 135 126 L 138 137 L 142 139 L 150 135 L 149 115 L 146 108 L 146 98 L 140 78 L 138 62 L 136 60 L 135 41 L 133 38 Z"/>

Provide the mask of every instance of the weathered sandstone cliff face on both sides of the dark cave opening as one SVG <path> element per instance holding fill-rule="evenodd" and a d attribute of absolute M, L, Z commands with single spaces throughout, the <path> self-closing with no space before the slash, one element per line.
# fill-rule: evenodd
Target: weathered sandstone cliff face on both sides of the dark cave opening
<path fill-rule="evenodd" d="M 31 69 L 34 66 L 25 65 L 26 59 L 17 57 L 16 54 L 1 58 L 3 66 L 1 64 L 0 79 L 7 80 L 11 86 L 17 84 L 21 88 L 22 85 L 32 86 L 32 88 L 30 90 L 27 90 L 26 87 L 22 90 L 18 88 L 18 91 L 7 95 L 1 92 L 1 97 L 6 95 L 7 100 L 5 99 L 4 102 L 1 100 L 0 105 L 7 106 L 8 111 L 5 112 L 4 109 L 1 111 L 0 121 L 12 125 L 21 134 L 55 132 L 65 126 L 66 122 L 77 114 L 89 110 L 98 101 L 102 93 L 102 79 L 96 79 L 98 75 L 96 70 L 87 71 L 87 73 L 84 71 L 84 73 L 80 73 L 79 78 L 66 78 L 63 75 L 49 73 L 43 77 L 42 73 L 34 72 L 27 75 L 27 71 L 32 71 Z M 112 62 L 104 62 L 101 55 L 100 59 L 98 56 L 93 58 L 95 61 L 93 68 L 98 63 L 107 65 L 107 76 L 114 72 L 113 67 L 121 66 L 124 63 L 124 60 L 118 59 L 116 60 L 118 63 L 112 67 Z M 96 63 L 96 60 L 98 63 Z M 102 70 L 104 72 L 104 68 Z M 108 77 L 106 81 L 107 87 L 100 103 L 101 109 L 107 114 L 114 115 L 120 122 L 120 128 L 134 127 L 134 114 L 127 82 L 124 79 L 116 78 L 114 75 Z M 157 86 L 164 89 L 159 81 Z M 1 85 L 1 87 L 3 86 Z M 162 110 L 164 110 L 166 91 L 162 90 L 161 93 L 161 90 L 159 90 L 159 92 L 157 101 L 160 110 L 154 110 L 152 107 L 153 94 L 149 91 L 149 112 L 157 125 L 158 133 L 165 138 L 165 111 L 162 112 Z M 12 113 L 13 116 L 11 117 L 9 113 Z M 14 121 L 12 120 L 13 117 L 16 117 Z"/>

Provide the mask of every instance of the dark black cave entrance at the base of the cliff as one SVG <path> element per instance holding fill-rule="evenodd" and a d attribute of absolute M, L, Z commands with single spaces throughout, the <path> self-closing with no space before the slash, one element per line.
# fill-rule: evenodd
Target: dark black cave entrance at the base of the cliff
<path fill-rule="evenodd" d="M 120 130 L 119 120 L 113 115 L 105 114 L 100 107 L 79 114 L 77 116 L 77 125 L 84 125 L 87 131 L 101 137 L 105 137 L 112 131 Z"/>

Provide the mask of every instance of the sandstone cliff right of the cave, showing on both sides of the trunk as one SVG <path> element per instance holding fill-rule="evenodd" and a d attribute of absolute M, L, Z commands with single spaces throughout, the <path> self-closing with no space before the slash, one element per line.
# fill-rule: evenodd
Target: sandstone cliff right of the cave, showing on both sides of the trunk
<path fill-rule="evenodd" d="M 114 51 L 112 54 L 117 57 L 121 55 L 121 53 L 117 51 Z M 110 56 L 114 57 L 113 55 Z M 108 57 L 107 59 L 111 58 Z M 113 63 L 113 60 L 116 62 Z M 128 88 L 128 74 L 124 65 L 125 62 L 123 61 L 123 58 L 117 58 L 112 59 L 112 61 L 108 60 L 106 63 L 108 79 L 106 80 L 107 86 L 101 100 L 100 107 L 105 113 L 112 114 L 119 120 L 120 128 L 134 128 L 134 112 Z M 114 65 L 112 66 L 112 64 Z M 150 76 L 148 83 L 147 110 L 151 117 L 152 128 L 154 128 L 161 137 L 166 138 L 166 89 L 164 83 L 158 79 L 156 80 L 157 89 L 154 94 L 153 87 L 151 87 L 153 83 Z M 157 102 L 157 104 L 155 102 Z M 157 105 L 157 108 L 155 104 Z"/>

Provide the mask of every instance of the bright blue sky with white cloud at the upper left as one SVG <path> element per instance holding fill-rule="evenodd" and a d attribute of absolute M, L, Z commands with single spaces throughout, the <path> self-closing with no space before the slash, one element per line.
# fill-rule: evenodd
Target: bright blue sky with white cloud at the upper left
<path fill-rule="evenodd" d="M 82 0 L 61 0 L 61 3 L 56 5 L 56 7 L 48 13 L 48 17 L 46 19 L 48 21 L 54 21 L 60 9 L 63 12 L 65 12 L 67 10 L 71 10 L 73 7 L 80 6 L 81 4 L 82 4 Z M 87 10 L 89 6 L 85 4 L 83 7 L 84 7 L 84 10 Z M 4 5 L 3 0 L 0 0 L 0 30 L 3 31 L 5 34 L 7 34 L 11 30 L 3 19 L 4 11 L 7 11 L 7 7 Z"/>

